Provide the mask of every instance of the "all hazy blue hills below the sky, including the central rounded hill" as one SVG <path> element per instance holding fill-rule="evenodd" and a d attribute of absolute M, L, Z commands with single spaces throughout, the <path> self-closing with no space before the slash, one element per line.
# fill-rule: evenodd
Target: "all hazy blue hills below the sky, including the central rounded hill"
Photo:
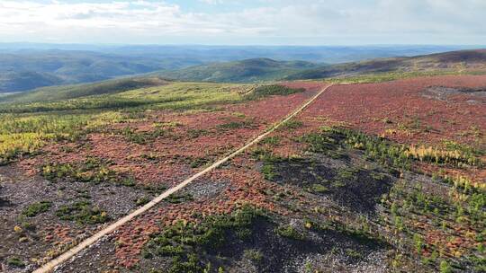
<path fill-rule="evenodd" d="M 315 68 L 316 64 L 322 66 L 376 57 L 416 56 L 461 48 L 470 47 L 90 46 L 4 43 L 0 44 L 3 52 L 0 54 L 0 92 L 23 92 L 43 86 L 91 83 L 152 72 L 184 80 L 263 81 L 301 71 L 305 73 L 304 70 Z M 267 59 L 247 60 L 262 57 Z M 234 62 L 237 60 L 246 61 Z M 285 62 L 297 60 L 302 62 Z M 221 62 L 232 63 L 219 64 Z M 189 66 L 198 67 L 187 68 Z"/>

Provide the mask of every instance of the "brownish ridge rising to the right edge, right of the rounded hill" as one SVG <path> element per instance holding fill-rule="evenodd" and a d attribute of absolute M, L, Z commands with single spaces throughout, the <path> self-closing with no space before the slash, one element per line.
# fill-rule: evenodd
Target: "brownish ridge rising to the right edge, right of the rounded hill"
<path fill-rule="evenodd" d="M 486 49 L 452 51 L 419 57 L 395 57 L 321 66 L 286 77 L 288 80 L 320 79 L 380 73 L 453 73 L 486 70 Z"/>

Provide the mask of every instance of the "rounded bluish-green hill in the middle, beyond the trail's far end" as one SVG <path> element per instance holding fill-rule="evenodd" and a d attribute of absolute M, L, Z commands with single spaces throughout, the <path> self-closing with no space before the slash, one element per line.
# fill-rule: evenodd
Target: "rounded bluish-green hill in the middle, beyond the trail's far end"
<path fill-rule="evenodd" d="M 275 61 L 252 58 L 229 63 L 193 66 L 160 75 L 181 81 L 249 83 L 272 81 L 317 65 L 304 61 Z"/>

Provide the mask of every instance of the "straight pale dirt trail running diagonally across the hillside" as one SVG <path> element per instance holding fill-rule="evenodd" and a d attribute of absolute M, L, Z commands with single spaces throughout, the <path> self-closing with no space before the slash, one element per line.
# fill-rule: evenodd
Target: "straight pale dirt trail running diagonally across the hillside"
<path fill-rule="evenodd" d="M 184 189 L 185 186 L 190 184 L 191 182 L 195 181 L 196 179 L 200 178 L 202 175 L 211 172 L 212 170 L 218 168 L 221 164 L 228 162 L 231 158 L 237 156 L 238 154 L 241 154 L 247 148 L 249 148 L 252 145 L 257 144 L 260 142 L 263 138 L 271 134 L 272 132 L 275 131 L 275 129 L 280 128 L 282 125 L 284 125 L 285 122 L 289 121 L 290 119 L 293 119 L 295 116 L 297 116 L 299 113 L 302 112 L 302 110 L 305 110 L 309 105 L 311 105 L 312 102 L 316 101 L 317 98 L 320 97 L 320 95 L 323 92 L 326 92 L 329 87 L 333 86 L 333 84 L 326 85 L 323 89 L 320 90 L 316 95 L 314 95 L 309 101 L 306 101 L 305 103 L 302 104 L 301 107 L 299 107 L 297 110 L 294 110 L 291 114 L 289 114 L 285 119 L 281 120 L 280 122 L 274 124 L 272 127 L 268 128 L 263 134 L 259 135 L 258 137 L 254 138 L 250 142 L 247 143 L 247 145 L 244 145 L 240 147 L 237 151 L 227 155 L 224 158 L 221 158 L 219 161 L 212 163 L 211 166 L 207 167 L 206 169 L 202 170 L 201 172 L 197 172 L 190 178 L 182 181 L 180 184 L 177 184 L 175 187 L 171 189 L 167 189 L 165 192 L 157 196 L 157 198 L 152 199 L 150 202 L 148 202 L 146 205 L 143 207 L 139 207 L 137 210 L 131 212 L 127 216 L 121 217 L 118 221 L 112 223 L 111 225 L 108 225 L 104 227 L 102 230 L 100 230 L 97 233 L 94 233 L 91 237 L 86 238 L 83 242 L 79 242 L 75 247 L 71 248 L 70 250 L 62 253 L 59 255 L 57 258 L 53 260 L 49 260 L 49 262 L 45 263 L 42 265 L 39 269 L 36 269 L 33 271 L 33 273 L 48 273 L 51 272 L 53 269 L 55 269 L 58 265 L 62 264 L 63 262 L 73 258 L 77 253 L 80 251 L 83 251 L 85 248 L 88 248 L 101 238 L 103 238 L 105 235 L 108 235 L 112 232 L 114 232 L 116 229 L 118 229 L 121 225 L 125 225 L 126 223 L 130 222 L 133 218 L 136 216 L 142 215 L 148 209 L 155 207 L 158 203 L 160 203 L 162 200 L 170 196 L 171 194 L 175 193 L 176 191 L 180 189 Z"/>

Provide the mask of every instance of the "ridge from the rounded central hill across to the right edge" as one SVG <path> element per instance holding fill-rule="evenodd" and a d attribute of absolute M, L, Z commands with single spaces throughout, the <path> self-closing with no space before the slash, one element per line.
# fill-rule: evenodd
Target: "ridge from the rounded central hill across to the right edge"
<path fill-rule="evenodd" d="M 451 51 L 417 57 L 389 57 L 337 65 L 252 58 L 191 66 L 158 75 L 178 81 L 255 83 L 275 80 L 322 79 L 386 72 L 486 70 L 486 49 Z"/>

